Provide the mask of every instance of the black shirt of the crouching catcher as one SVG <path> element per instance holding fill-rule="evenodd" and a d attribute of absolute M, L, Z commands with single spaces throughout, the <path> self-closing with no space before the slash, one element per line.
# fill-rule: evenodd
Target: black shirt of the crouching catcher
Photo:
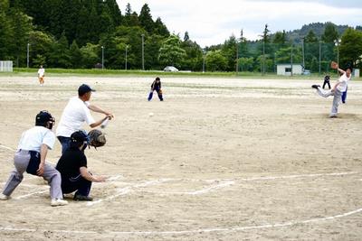
<path fill-rule="evenodd" d="M 79 176 L 81 167 L 87 167 L 87 157 L 78 148 L 70 148 L 62 154 L 55 169 L 61 172 L 62 180 L 68 180 Z"/>

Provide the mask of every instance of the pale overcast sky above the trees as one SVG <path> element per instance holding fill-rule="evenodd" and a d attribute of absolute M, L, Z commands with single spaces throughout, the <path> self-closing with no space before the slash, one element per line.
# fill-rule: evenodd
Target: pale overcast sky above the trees
<path fill-rule="evenodd" d="M 362 25 L 362 0 L 118 0 L 122 14 L 129 3 L 138 14 L 148 4 L 154 20 L 160 17 L 170 32 L 202 47 L 223 43 L 232 34 L 260 38 L 265 23 L 271 32 L 300 29 L 307 23 Z"/>

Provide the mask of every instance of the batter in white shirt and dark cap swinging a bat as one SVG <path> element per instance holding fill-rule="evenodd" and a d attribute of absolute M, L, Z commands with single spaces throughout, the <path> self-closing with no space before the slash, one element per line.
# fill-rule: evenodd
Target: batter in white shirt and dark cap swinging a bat
<path fill-rule="evenodd" d="M 62 112 L 61 121 L 56 129 L 56 135 L 62 144 L 62 153 L 70 146 L 71 134 L 80 130 L 81 125 L 86 122 L 90 128 L 97 127 L 106 119 L 112 119 L 110 112 L 102 110 L 100 107 L 90 105 L 91 92 L 95 91 L 90 86 L 82 84 L 78 88 L 78 97 L 71 97 L 67 106 Z M 90 115 L 90 110 L 104 114 L 105 116 L 99 121 L 94 121 Z"/>

